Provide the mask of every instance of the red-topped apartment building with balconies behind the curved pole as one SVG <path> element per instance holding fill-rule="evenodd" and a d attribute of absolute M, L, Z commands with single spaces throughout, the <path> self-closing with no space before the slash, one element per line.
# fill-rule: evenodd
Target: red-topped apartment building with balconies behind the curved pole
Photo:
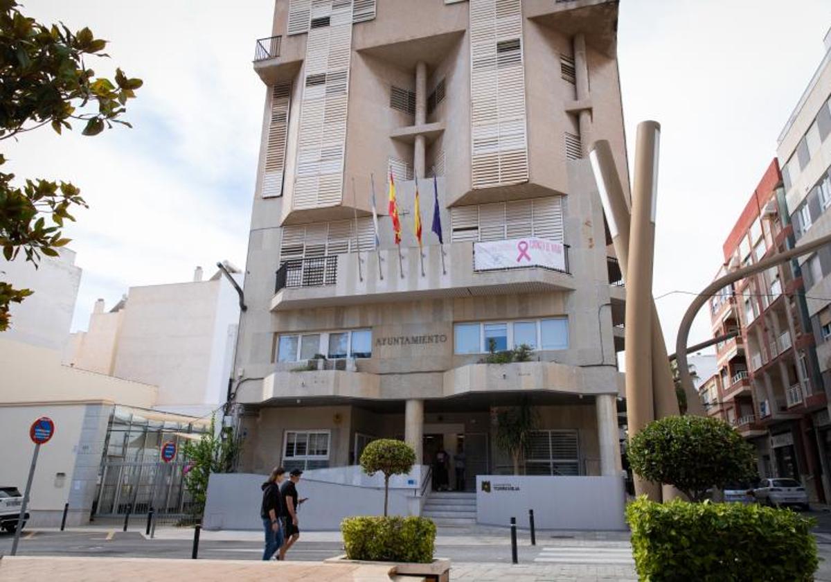
<path fill-rule="evenodd" d="M 776 160 L 725 240 L 719 278 L 790 248 L 793 230 Z M 760 476 L 804 482 L 815 501 L 828 498 L 819 417 L 827 399 L 804 317 L 799 271 L 781 264 L 740 279 L 710 301 L 718 370 L 701 387 L 708 413 L 730 422 L 756 449 Z"/>

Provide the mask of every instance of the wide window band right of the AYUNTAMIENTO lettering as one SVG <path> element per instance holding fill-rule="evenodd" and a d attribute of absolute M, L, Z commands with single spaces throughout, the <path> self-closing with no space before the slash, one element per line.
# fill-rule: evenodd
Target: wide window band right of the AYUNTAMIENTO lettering
<path fill-rule="evenodd" d="M 525 343 L 532 349 L 568 349 L 568 318 L 514 322 L 456 323 L 456 354 L 487 353 L 490 340 L 499 352 Z"/>

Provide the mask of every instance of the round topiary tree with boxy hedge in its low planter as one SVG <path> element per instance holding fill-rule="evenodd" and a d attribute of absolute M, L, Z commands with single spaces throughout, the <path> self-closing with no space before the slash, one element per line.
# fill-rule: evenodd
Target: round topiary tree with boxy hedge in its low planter
<path fill-rule="evenodd" d="M 418 575 L 427 580 L 450 580 L 450 560 L 434 559 L 435 524 L 425 517 L 387 515 L 390 477 L 409 473 L 416 452 L 406 442 L 371 441 L 361 453 L 367 475 L 384 476 L 384 515 L 358 515 L 341 522 L 346 555 L 331 561 L 394 562 L 391 574 Z M 330 561 L 330 560 L 327 560 Z"/>

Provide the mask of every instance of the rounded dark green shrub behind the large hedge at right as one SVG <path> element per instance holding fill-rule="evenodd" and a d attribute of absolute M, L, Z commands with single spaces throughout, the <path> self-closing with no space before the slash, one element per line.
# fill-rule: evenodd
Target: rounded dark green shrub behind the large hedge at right
<path fill-rule="evenodd" d="M 666 483 L 702 501 L 713 486 L 752 481 L 753 446 L 724 421 L 705 417 L 665 417 L 632 437 L 627 451 L 632 471 Z"/>

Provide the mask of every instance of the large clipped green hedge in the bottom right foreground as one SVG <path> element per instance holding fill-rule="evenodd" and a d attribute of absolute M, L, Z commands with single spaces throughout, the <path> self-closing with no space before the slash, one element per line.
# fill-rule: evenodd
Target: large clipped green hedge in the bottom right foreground
<path fill-rule="evenodd" d="M 814 580 L 815 521 L 791 510 L 642 497 L 626 513 L 641 580 Z"/>

